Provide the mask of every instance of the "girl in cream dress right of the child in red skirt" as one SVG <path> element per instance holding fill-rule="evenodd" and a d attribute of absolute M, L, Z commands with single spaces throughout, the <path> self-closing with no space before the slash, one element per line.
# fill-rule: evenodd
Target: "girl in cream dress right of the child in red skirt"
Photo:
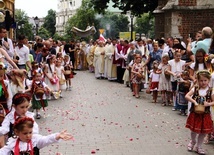
<path fill-rule="evenodd" d="M 162 96 L 162 106 L 166 106 L 167 104 L 170 104 L 170 91 L 171 91 L 171 83 L 170 83 L 170 75 L 166 74 L 166 70 L 169 68 L 169 55 L 164 54 L 162 56 L 161 63 L 158 66 L 157 73 L 160 74 L 160 80 L 158 84 L 158 89 L 161 92 Z"/>

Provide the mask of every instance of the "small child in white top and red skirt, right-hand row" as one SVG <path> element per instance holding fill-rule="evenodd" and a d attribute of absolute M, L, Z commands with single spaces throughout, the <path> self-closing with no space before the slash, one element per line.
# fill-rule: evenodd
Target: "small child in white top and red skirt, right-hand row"
<path fill-rule="evenodd" d="M 153 70 L 149 75 L 149 87 L 152 91 L 153 103 L 157 102 L 158 98 L 158 85 L 160 80 L 160 74 L 158 73 L 158 62 L 153 62 Z"/>

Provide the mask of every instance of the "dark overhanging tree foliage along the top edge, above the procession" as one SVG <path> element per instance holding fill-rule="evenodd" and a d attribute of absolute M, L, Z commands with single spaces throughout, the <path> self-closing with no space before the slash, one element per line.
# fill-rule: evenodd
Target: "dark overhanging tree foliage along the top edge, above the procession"
<path fill-rule="evenodd" d="M 143 13 L 152 12 L 158 6 L 158 0 L 111 0 L 113 7 L 122 10 L 122 13 L 130 11 L 135 16 L 141 16 Z M 91 0 L 94 9 L 98 13 L 105 13 L 110 0 Z"/>

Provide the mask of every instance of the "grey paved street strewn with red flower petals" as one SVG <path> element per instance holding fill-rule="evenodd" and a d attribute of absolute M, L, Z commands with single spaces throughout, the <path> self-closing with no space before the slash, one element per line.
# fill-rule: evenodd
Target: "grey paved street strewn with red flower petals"
<path fill-rule="evenodd" d="M 43 135 L 67 129 L 75 140 L 48 146 L 42 155 L 196 154 L 186 150 L 186 117 L 151 103 L 145 92 L 136 99 L 126 86 L 97 80 L 87 71 L 77 72 L 72 85 L 62 99 L 49 102 L 37 122 Z M 214 144 L 204 148 L 214 154 Z"/>

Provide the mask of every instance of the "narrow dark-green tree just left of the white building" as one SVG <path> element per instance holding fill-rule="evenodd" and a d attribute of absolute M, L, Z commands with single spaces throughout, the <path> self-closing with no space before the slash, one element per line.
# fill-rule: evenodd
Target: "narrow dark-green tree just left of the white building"
<path fill-rule="evenodd" d="M 48 15 L 45 17 L 43 27 L 48 30 L 50 36 L 54 36 L 56 32 L 56 11 L 48 10 Z"/>

